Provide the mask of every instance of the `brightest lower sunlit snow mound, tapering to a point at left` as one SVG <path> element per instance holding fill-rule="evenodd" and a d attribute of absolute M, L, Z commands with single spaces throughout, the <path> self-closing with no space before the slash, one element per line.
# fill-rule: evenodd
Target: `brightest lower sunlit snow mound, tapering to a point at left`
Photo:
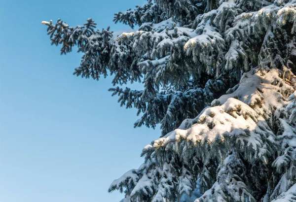
<path fill-rule="evenodd" d="M 239 112 L 231 113 L 238 108 L 241 108 Z M 187 142 L 196 145 L 197 143 L 224 142 L 225 138 L 235 137 L 237 143 L 240 142 L 244 145 L 246 141 L 246 146 L 251 146 L 254 150 L 258 149 L 258 155 L 261 157 L 265 153 L 265 149 L 260 148 L 262 144 L 260 134 L 265 134 L 265 132 L 257 126 L 257 117 L 245 119 L 244 116 L 248 116 L 247 114 L 256 114 L 256 112 L 245 103 L 229 98 L 223 105 L 207 108 L 196 118 L 199 119 L 199 122 L 205 120 L 204 124 L 193 125 L 187 130 L 176 129 L 155 140 L 153 147 L 166 146 L 170 142 L 180 141 L 184 138 Z M 209 127 L 211 124 L 214 125 L 212 129 Z M 250 135 L 247 135 L 247 133 Z"/>

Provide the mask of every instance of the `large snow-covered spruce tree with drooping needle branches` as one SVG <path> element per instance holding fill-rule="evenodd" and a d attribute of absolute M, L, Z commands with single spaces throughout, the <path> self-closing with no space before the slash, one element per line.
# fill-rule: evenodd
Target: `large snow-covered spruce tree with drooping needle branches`
<path fill-rule="evenodd" d="M 74 75 L 114 75 L 135 127 L 162 129 L 113 181 L 122 202 L 296 202 L 296 0 L 147 0 L 137 30 L 43 21 Z M 144 90 L 122 89 L 141 82 Z"/>

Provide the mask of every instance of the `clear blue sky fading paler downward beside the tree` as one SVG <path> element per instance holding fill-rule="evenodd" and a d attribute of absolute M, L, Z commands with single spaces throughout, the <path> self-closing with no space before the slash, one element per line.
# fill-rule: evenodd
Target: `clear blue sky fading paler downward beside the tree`
<path fill-rule="evenodd" d="M 0 202 L 118 202 L 112 180 L 138 168 L 142 148 L 159 130 L 134 129 L 135 109 L 121 108 L 108 88 L 72 75 L 80 56 L 60 56 L 41 21 L 70 26 L 144 0 L 0 1 Z"/>

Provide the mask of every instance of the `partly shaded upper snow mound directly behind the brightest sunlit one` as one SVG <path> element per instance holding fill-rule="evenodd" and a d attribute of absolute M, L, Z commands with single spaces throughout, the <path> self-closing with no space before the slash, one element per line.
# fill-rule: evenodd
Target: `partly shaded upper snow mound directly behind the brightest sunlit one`
<path fill-rule="evenodd" d="M 255 72 L 253 72 L 255 71 Z M 224 103 L 228 98 L 237 98 L 240 101 L 250 105 L 252 108 L 256 109 L 256 112 L 263 117 L 269 117 L 267 111 L 272 111 L 273 108 L 280 108 L 283 105 L 288 104 L 285 96 L 288 97 L 294 89 L 290 84 L 286 83 L 284 80 L 279 78 L 279 72 L 277 69 L 271 69 L 268 73 L 262 75 L 259 69 L 253 69 L 241 78 L 239 87 L 237 90 L 228 95 L 223 95 L 215 102 Z M 271 85 L 274 82 L 278 82 L 277 85 Z M 283 87 L 280 87 L 283 85 Z M 286 90 L 290 93 L 286 94 Z"/>

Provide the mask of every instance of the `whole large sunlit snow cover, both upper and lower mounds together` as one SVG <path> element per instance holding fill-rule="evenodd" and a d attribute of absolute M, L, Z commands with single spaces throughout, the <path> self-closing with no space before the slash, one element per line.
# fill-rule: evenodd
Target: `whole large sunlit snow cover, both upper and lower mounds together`
<path fill-rule="evenodd" d="M 155 140 L 152 146 L 156 149 L 166 147 L 182 139 L 192 145 L 213 145 L 234 138 L 235 144 L 238 144 L 235 147 L 252 148 L 254 158 L 265 161 L 266 144 L 275 142 L 275 135 L 265 122 L 269 117 L 266 112 L 286 105 L 285 96 L 288 95 L 285 92 L 293 90 L 279 74 L 277 69 L 268 72 L 252 69 L 243 75 L 235 92 L 213 101 L 212 107 L 205 108 L 192 120 L 185 120 L 179 129 Z M 272 85 L 274 80 L 279 80 L 277 85 Z M 191 123 L 188 124 L 188 121 Z M 186 129 L 185 125 L 191 127 Z M 262 142 L 263 137 L 269 143 Z"/>

